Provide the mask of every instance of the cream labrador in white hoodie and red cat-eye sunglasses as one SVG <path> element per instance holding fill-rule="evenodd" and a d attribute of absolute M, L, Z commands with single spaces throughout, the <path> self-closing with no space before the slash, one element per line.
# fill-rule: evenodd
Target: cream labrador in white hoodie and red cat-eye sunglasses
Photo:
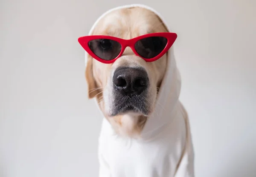
<path fill-rule="evenodd" d="M 193 177 L 194 153 L 171 33 L 143 5 L 107 11 L 79 43 L 88 97 L 104 115 L 100 177 Z"/>

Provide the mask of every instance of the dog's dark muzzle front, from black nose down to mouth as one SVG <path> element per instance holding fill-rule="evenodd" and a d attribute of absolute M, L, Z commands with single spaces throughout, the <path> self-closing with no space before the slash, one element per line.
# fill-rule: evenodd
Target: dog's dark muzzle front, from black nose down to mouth
<path fill-rule="evenodd" d="M 113 74 L 112 116 L 126 111 L 148 114 L 148 74 L 143 68 L 119 67 Z"/>

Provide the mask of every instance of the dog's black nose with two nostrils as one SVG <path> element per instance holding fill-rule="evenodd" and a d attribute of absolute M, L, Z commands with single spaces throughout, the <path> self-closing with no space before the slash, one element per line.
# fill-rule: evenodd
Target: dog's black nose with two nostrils
<path fill-rule="evenodd" d="M 117 68 L 113 85 L 123 95 L 141 94 L 148 87 L 148 74 L 141 68 Z"/>

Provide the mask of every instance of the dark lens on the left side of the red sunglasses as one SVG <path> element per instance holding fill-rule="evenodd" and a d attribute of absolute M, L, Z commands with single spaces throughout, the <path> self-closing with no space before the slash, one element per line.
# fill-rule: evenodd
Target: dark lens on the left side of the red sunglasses
<path fill-rule="evenodd" d="M 91 51 L 103 60 L 115 59 L 122 49 L 120 43 L 109 39 L 90 40 L 88 45 Z"/>

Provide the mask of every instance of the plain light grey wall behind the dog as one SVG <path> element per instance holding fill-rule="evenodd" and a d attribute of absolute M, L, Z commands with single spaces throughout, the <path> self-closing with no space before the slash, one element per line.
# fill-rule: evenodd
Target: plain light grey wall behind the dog
<path fill-rule="evenodd" d="M 102 120 L 77 38 L 145 3 L 178 34 L 197 177 L 255 177 L 255 0 L 0 0 L 0 177 L 96 177 Z"/>

